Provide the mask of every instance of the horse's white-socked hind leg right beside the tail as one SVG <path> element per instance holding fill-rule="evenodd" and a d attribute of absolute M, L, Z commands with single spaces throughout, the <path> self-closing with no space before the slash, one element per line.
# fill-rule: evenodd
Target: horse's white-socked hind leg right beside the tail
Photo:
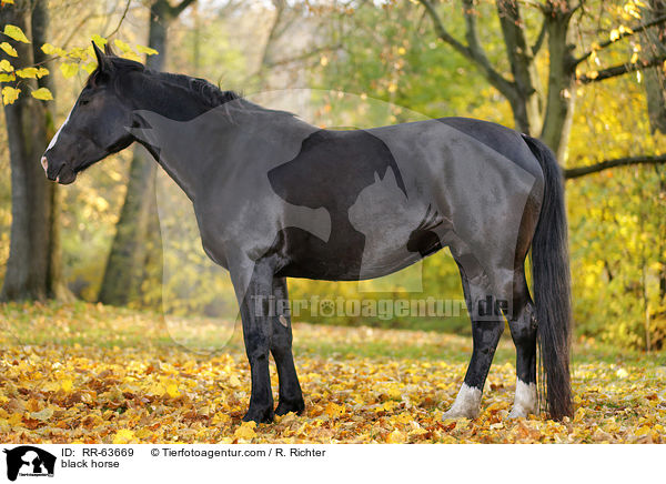
<path fill-rule="evenodd" d="M 516 346 L 516 394 L 509 419 L 537 412 L 536 317 L 529 290 L 522 271 L 514 284 L 514 313 L 508 327 Z"/>

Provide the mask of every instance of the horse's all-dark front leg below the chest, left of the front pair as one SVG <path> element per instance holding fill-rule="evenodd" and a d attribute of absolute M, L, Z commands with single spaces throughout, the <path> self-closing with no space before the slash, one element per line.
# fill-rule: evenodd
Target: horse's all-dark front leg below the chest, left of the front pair
<path fill-rule="evenodd" d="M 260 260 L 249 276 L 236 274 L 236 294 L 241 301 L 241 319 L 243 322 L 243 341 L 245 354 L 250 361 L 252 393 L 250 407 L 243 417 L 244 422 L 269 423 L 273 421 L 273 393 L 269 373 L 269 351 L 273 333 L 273 317 L 270 314 L 269 296 L 273 285 L 273 265 L 269 260 Z M 234 275 L 232 274 L 232 279 Z M 243 290 L 244 288 L 244 290 Z M 243 294 L 244 293 L 244 294 Z"/>

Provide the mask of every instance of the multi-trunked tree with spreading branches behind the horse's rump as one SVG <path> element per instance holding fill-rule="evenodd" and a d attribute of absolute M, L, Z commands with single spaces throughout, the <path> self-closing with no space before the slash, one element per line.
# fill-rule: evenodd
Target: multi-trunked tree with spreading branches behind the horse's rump
<path fill-rule="evenodd" d="M 616 26 L 605 39 L 592 41 L 586 48 L 577 42 L 579 38 L 574 34 L 573 20 L 576 16 L 583 17 L 588 13 L 593 8 L 588 2 L 495 1 L 495 14 L 501 27 L 496 36 L 504 46 L 505 59 L 508 63 L 507 72 L 493 64 L 486 54 L 485 44 L 490 36 L 486 33 L 482 40 L 480 33 L 481 1 L 454 2 L 462 9 L 465 20 L 465 40 L 450 32 L 440 4 L 432 0 L 420 0 L 420 2 L 432 20 L 437 38 L 476 65 L 486 81 L 506 98 L 513 111 L 516 129 L 542 138 L 561 160 L 565 159 L 578 87 L 660 67 L 666 61 L 665 51 L 645 49 L 640 52 L 635 50 L 629 59 L 614 65 L 601 69 L 585 67 L 588 60 L 597 58 L 602 51 L 616 42 L 637 33 L 648 32 L 666 22 L 666 16 L 642 16 L 637 7 L 638 2 L 628 2 L 623 22 Z M 523 12 L 525 6 L 531 8 L 531 14 L 536 12 L 541 18 L 541 27 L 536 36 L 529 36 Z M 539 57 L 547 58 L 548 73 L 545 82 L 541 80 L 537 71 Z M 666 161 L 666 158 L 662 157 L 660 161 Z M 624 162 L 628 161 L 624 160 Z M 630 162 L 639 163 L 643 159 L 638 157 Z M 606 165 L 598 168 L 603 169 Z"/>

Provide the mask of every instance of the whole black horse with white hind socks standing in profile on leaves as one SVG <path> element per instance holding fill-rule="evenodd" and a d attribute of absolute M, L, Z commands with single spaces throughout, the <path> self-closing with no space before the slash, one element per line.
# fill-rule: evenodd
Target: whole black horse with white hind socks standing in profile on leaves
<path fill-rule="evenodd" d="M 539 141 L 497 124 L 444 118 L 331 131 L 201 79 L 102 53 L 42 158 L 71 183 L 138 141 L 193 202 L 203 248 L 226 268 L 252 375 L 245 421 L 301 412 L 285 278 L 362 280 L 448 246 L 474 349 L 447 417 L 474 417 L 508 320 L 516 345 L 509 416 L 537 411 L 536 345 L 551 416 L 572 412 L 566 214 L 562 177 Z M 532 248 L 535 302 L 525 280 Z M 269 353 L 280 377 L 273 411 Z"/>

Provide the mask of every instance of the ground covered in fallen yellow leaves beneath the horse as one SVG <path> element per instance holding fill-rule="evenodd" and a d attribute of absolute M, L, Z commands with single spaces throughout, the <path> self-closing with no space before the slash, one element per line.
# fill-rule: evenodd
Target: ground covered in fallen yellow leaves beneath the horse
<path fill-rule="evenodd" d="M 200 350 L 214 341 L 210 326 L 192 327 Z M 481 416 L 456 422 L 442 413 L 466 369 L 468 339 L 296 323 L 306 412 L 254 426 L 241 424 L 249 366 L 238 334 L 216 352 L 192 351 L 148 313 L 3 305 L 0 341 L 2 442 L 666 443 L 666 355 L 593 342 L 575 346 L 572 421 L 506 419 L 515 370 L 505 337 Z M 274 369 L 272 381 L 276 387 Z"/>

